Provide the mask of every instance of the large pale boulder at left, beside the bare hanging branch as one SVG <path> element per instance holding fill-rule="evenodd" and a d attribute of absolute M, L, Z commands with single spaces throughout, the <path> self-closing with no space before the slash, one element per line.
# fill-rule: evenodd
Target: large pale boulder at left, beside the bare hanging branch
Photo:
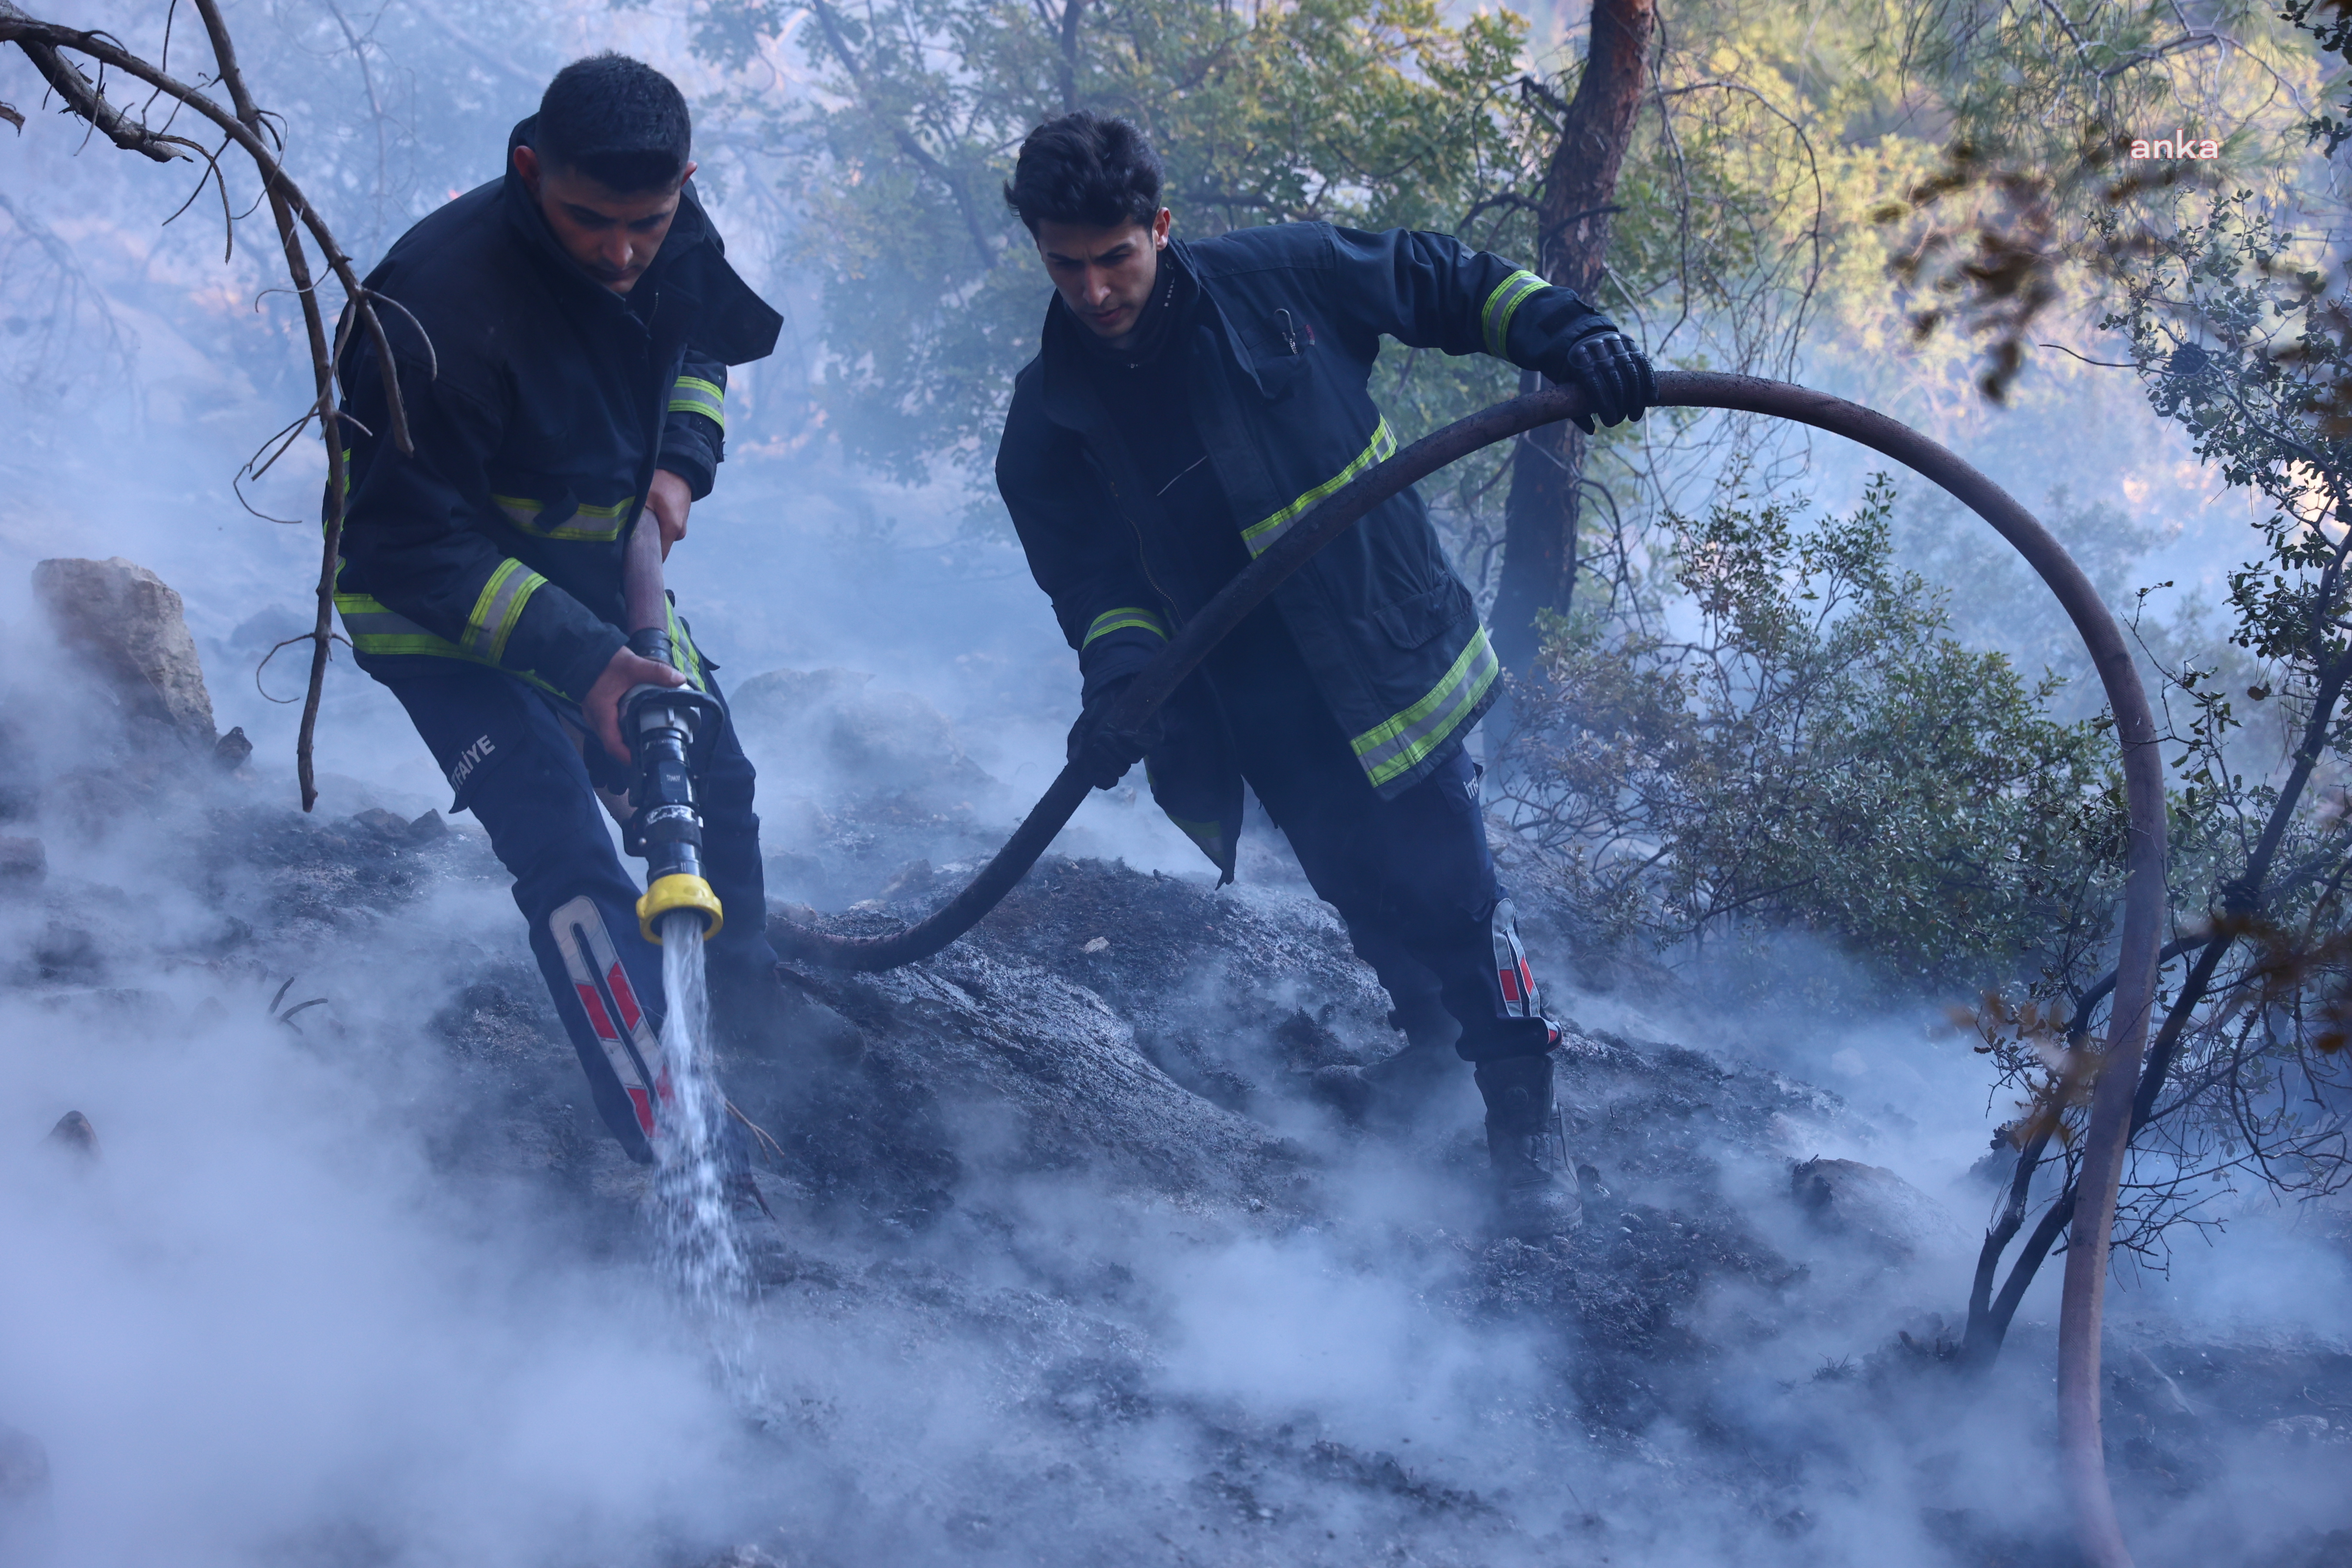
<path fill-rule="evenodd" d="M 56 635 L 108 679 L 122 705 L 160 719 L 202 750 L 214 748 L 212 693 L 172 588 L 120 555 L 33 567 L 33 592 Z"/>

